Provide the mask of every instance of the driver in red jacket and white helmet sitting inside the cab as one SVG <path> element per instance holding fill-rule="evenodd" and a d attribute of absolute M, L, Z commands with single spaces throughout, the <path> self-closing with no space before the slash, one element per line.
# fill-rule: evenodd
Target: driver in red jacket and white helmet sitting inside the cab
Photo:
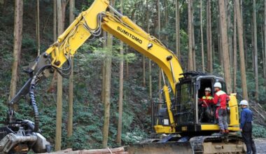
<path fill-rule="evenodd" d="M 204 93 L 205 95 L 199 100 L 199 105 L 201 105 L 199 108 L 200 122 L 209 122 L 210 119 L 208 119 L 206 112 L 207 108 L 212 103 L 212 99 L 214 99 L 214 97 L 211 96 L 211 87 L 206 87 Z"/>

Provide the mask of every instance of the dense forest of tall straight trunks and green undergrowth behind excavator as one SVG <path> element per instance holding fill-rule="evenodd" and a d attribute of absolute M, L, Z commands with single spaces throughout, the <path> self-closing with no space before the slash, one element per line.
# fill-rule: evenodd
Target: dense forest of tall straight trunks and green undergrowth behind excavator
<path fill-rule="evenodd" d="M 0 0 L 1 125 L 8 102 L 29 78 L 29 63 L 93 1 Z M 183 72 L 225 78 L 227 93 L 250 103 L 253 136 L 266 138 L 266 0 L 110 0 L 110 5 L 172 50 Z M 71 59 L 69 76 L 55 72 L 36 86 L 39 127 L 52 151 L 125 146 L 154 133 L 151 103 L 164 101 L 155 62 L 106 31 L 87 39 Z M 16 118 L 34 121 L 29 100 L 15 104 Z"/>

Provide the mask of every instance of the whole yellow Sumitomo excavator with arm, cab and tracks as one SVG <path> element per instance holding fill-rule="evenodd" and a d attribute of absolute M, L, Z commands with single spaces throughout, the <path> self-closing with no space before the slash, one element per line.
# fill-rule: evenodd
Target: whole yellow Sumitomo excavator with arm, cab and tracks
<path fill-rule="evenodd" d="M 30 64 L 27 69 L 29 80 L 8 102 L 6 125 L 0 128 L 0 153 L 27 153 L 31 149 L 34 153 L 50 151 L 50 143 L 39 131 L 34 88 L 39 81 L 55 71 L 62 76 L 68 76 L 71 57 L 76 54 L 76 50 L 90 36 L 101 36 L 103 30 L 153 60 L 162 72 L 162 93 L 165 100 L 163 104 L 152 105 L 152 121 L 155 134 L 165 134 L 165 137 L 130 145 L 127 148 L 129 153 L 244 153 L 241 138 L 233 134 L 239 131 L 235 94 L 230 94 L 228 102 L 228 124 L 232 133 L 218 134 L 219 127 L 214 118 L 215 106 L 210 106 L 205 120 L 200 112 L 198 99 L 204 96 L 204 88 L 211 87 L 214 91 L 214 83 L 220 82 L 226 91 L 223 78 L 208 73 L 183 73 L 174 52 L 120 14 L 109 5 L 108 0 L 95 0 L 90 8 L 78 15 L 50 48 Z M 170 97 L 170 92 L 173 98 Z M 16 119 L 13 111 L 14 104 L 27 94 L 34 111 L 34 122 Z"/>

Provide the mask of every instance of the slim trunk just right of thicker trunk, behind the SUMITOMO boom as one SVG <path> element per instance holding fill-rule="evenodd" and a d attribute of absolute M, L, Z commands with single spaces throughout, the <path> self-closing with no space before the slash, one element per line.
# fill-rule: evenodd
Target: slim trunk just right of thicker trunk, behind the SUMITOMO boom
<path fill-rule="evenodd" d="M 123 14 L 123 0 L 121 0 L 120 4 L 120 12 Z M 123 118 L 123 76 L 124 76 L 124 49 L 123 49 L 123 41 L 120 41 L 120 71 L 119 71 L 119 100 L 118 100 L 118 135 L 116 138 L 116 142 L 119 146 L 121 146 L 121 134 L 122 134 L 122 118 Z M 145 58 L 145 57 L 144 57 Z M 145 61 L 144 61 L 145 62 Z M 145 70 L 144 70 L 145 71 Z"/>

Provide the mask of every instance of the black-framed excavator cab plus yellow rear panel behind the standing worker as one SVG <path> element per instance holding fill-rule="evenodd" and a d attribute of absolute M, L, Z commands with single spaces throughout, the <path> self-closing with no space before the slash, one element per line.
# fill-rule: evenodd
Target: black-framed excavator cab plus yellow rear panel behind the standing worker
<path fill-rule="evenodd" d="M 204 89 L 211 88 L 211 95 L 214 97 L 214 83 L 220 82 L 222 90 L 226 92 L 223 78 L 206 73 L 183 73 L 179 83 L 176 84 L 176 98 L 172 104 L 172 113 L 176 123 L 176 132 L 194 134 L 206 132 L 211 134 L 217 132 L 219 127 L 216 120 L 216 106 L 210 104 L 207 109 L 202 110 L 199 99 L 204 96 Z M 237 100 L 231 94 L 228 102 L 228 124 L 229 129 L 236 131 L 239 128 Z M 205 113 L 202 113 L 205 112 Z M 230 116 L 233 113 L 236 116 Z M 232 123 L 231 123 L 232 122 Z"/>

